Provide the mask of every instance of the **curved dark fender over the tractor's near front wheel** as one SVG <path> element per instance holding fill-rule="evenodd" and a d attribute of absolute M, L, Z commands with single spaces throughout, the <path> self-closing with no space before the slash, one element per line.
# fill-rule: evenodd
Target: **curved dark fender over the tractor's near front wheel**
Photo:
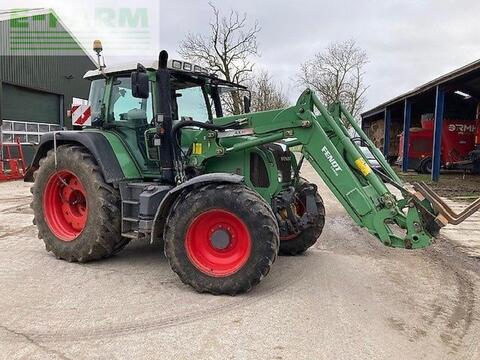
<path fill-rule="evenodd" d="M 211 173 L 196 176 L 183 184 L 174 187 L 167 195 L 162 199 L 160 206 L 157 209 L 155 218 L 153 220 L 153 227 L 151 233 L 151 241 L 160 239 L 163 235 L 165 223 L 167 222 L 168 214 L 175 201 L 184 193 L 191 191 L 192 189 L 208 184 L 229 183 L 229 184 L 241 184 L 243 183 L 243 176 L 227 173 Z"/>

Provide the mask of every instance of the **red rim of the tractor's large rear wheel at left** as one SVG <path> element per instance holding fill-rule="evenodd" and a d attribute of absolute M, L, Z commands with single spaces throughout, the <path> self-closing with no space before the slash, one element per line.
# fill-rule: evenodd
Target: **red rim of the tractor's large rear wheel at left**
<path fill-rule="evenodd" d="M 85 188 L 68 170 L 54 173 L 43 192 L 43 212 L 52 233 L 63 241 L 75 240 L 87 223 Z"/>

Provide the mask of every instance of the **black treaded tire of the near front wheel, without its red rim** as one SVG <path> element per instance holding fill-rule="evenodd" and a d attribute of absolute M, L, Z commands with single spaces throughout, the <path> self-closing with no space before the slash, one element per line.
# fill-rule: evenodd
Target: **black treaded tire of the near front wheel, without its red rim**
<path fill-rule="evenodd" d="M 200 216 L 213 211 L 226 211 L 240 219 L 248 230 L 251 244 L 245 263 L 232 274 L 224 276 L 213 274 L 214 270 L 201 270 L 191 260 L 192 251 L 187 249 L 187 242 L 193 241 L 188 240 L 190 229 L 195 227 Z M 207 228 L 202 226 L 199 229 Z M 196 237 L 199 238 L 203 239 Z M 213 235 L 210 235 L 203 242 L 208 242 L 213 248 L 212 238 Z M 230 243 L 235 236 L 230 234 L 228 238 Z M 165 255 L 182 282 L 198 292 L 212 294 L 235 295 L 251 290 L 270 271 L 279 248 L 278 224 L 270 206 L 257 193 L 237 184 L 210 184 L 180 197 L 168 216 L 164 240 Z M 228 246 L 225 248 L 228 249 Z"/>

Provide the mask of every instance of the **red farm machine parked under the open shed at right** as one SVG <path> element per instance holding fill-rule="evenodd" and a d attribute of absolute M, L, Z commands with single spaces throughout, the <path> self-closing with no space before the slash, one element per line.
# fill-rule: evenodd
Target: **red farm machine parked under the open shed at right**
<path fill-rule="evenodd" d="M 420 128 L 411 128 L 408 167 L 420 173 L 432 171 L 434 120 L 421 120 Z M 445 169 L 480 173 L 480 121 L 444 119 L 442 124 L 441 165 Z M 403 133 L 400 135 L 397 163 L 403 159 Z"/>

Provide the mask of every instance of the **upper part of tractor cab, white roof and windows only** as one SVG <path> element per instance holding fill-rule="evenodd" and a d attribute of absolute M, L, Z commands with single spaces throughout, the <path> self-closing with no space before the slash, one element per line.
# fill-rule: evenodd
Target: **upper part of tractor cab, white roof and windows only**
<path fill-rule="evenodd" d="M 139 99 L 132 92 L 132 72 L 138 71 L 139 65 L 118 65 L 91 70 L 85 74 L 84 78 L 92 82 L 88 100 L 94 126 L 153 120 L 157 94 L 152 90 L 158 61 L 146 67 L 140 65 L 149 82 L 144 99 Z M 224 95 L 234 91 L 248 91 L 244 86 L 219 79 L 209 74 L 207 69 L 188 62 L 168 60 L 168 70 L 171 74 L 173 120 L 194 118 L 205 122 L 213 117 L 222 117 L 225 112 L 221 101 Z"/>

